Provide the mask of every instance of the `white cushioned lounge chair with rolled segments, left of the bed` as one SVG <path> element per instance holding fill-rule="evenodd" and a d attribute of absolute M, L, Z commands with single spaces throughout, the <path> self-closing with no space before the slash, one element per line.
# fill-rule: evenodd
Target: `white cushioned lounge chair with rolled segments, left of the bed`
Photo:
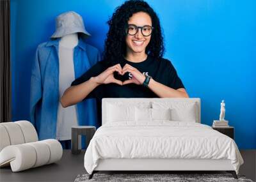
<path fill-rule="evenodd" d="M 58 140 L 38 141 L 29 121 L 0 123 L 0 167 L 11 165 L 13 172 L 23 171 L 56 162 L 62 154 Z"/>

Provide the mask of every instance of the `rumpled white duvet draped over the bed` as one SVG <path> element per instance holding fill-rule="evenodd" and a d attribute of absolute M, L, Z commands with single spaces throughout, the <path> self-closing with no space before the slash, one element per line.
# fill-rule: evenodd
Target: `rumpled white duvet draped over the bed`
<path fill-rule="evenodd" d="M 243 158 L 230 137 L 191 122 L 107 123 L 97 130 L 84 155 L 89 174 L 99 159 L 193 158 L 229 159 L 238 174 Z"/>

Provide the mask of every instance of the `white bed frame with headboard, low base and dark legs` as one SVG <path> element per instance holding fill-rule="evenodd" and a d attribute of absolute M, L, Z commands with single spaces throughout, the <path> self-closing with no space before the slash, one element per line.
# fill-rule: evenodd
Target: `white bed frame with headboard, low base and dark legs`
<path fill-rule="evenodd" d="M 102 125 L 106 123 L 107 105 L 111 102 L 152 102 L 154 100 L 173 102 L 195 102 L 197 105 L 197 123 L 200 123 L 200 98 L 103 98 L 102 99 Z M 236 171 L 230 160 L 211 160 L 211 159 L 159 159 L 159 158 L 143 158 L 143 159 L 127 159 L 127 158 L 108 158 L 100 159 L 97 167 L 90 174 L 99 171 L 147 171 L 150 173 L 163 173 L 170 171 L 226 171 L 237 179 Z"/>

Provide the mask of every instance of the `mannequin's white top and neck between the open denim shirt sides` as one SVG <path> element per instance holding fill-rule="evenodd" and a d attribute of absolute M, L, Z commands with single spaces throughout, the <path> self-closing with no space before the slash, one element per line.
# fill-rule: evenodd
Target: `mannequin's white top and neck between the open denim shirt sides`
<path fill-rule="evenodd" d="M 74 73 L 74 47 L 78 44 L 77 33 L 62 36 L 59 42 L 59 96 L 63 95 L 72 81 L 75 79 Z M 71 128 L 77 126 L 76 105 L 63 108 L 58 104 L 58 116 L 56 126 L 56 139 L 61 141 L 63 148 L 70 148 Z"/>

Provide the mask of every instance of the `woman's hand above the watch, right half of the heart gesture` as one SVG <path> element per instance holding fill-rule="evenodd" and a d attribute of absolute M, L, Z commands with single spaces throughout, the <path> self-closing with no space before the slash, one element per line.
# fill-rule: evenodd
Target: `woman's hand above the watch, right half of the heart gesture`
<path fill-rule="evenodd" d="M 131 83 L 137 84 L 137 85 L 143 84 L 145 80 L 145 75 L 143 75 L 143 73 L 141 73 L 139 70 L 132 67 L 130 64 L 125 64 L 125 66 L 122 69 L 122 75 L 124 75 L 126 72 L 130 72 L 132 74 L 132 78 L 129 80 L 125 80 L 123 82 L 123 85 L 131 84 Z"/>

